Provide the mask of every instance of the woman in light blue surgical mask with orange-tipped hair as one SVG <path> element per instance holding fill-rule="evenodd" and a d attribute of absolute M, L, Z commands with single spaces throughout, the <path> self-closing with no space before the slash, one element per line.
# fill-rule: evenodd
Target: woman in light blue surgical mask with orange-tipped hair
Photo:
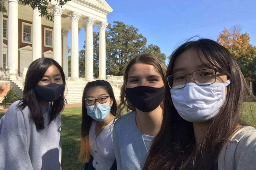
<path fill-rule="evenodd" d="M 117 104 L 105 80 L 88 82 L 82 98 L 82 127 L 79 161 L 85 170 L 115 170 L 113 119 Z"/>

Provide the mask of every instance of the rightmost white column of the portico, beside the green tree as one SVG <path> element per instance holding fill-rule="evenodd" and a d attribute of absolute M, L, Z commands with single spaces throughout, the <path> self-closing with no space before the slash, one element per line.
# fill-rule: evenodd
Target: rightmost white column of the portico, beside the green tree
<path fill-rule="evenodd" d="M 101 22 L 99 24 L 100 39 L 99 39 L 99 79 L 106 80 L 106 35 L 105 30 L 108 23 Z"/>

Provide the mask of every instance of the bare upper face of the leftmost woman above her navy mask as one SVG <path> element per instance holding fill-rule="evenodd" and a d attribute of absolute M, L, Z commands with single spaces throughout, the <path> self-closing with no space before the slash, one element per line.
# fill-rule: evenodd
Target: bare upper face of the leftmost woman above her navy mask
<path fill-rule="evenodd" d="M 63 84 L 61 72 L 55 65 L 51 65 L 45 71 L 44 76 L 37 84 L 39 86 L 45 86 L 50 83 Z"/>

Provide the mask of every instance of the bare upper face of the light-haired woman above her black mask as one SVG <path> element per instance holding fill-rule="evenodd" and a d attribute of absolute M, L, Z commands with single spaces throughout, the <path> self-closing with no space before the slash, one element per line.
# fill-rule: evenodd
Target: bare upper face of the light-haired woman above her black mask
<path fill-rule="evenodd" d="M 137 63 L 130 67 L 126 88 L 163 87 L 163 85 L 162 77 L 153 65 Z"/>

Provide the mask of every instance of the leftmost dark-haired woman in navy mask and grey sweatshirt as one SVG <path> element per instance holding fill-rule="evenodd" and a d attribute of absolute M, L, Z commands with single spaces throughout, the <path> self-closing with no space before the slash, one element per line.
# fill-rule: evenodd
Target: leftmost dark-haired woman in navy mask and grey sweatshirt
<path fill-rule="evenodd" d="M 33 61 L 23 98 L 0 120 L 0 169 L 61 169 L 65 75 L 53 59 Z"/>

